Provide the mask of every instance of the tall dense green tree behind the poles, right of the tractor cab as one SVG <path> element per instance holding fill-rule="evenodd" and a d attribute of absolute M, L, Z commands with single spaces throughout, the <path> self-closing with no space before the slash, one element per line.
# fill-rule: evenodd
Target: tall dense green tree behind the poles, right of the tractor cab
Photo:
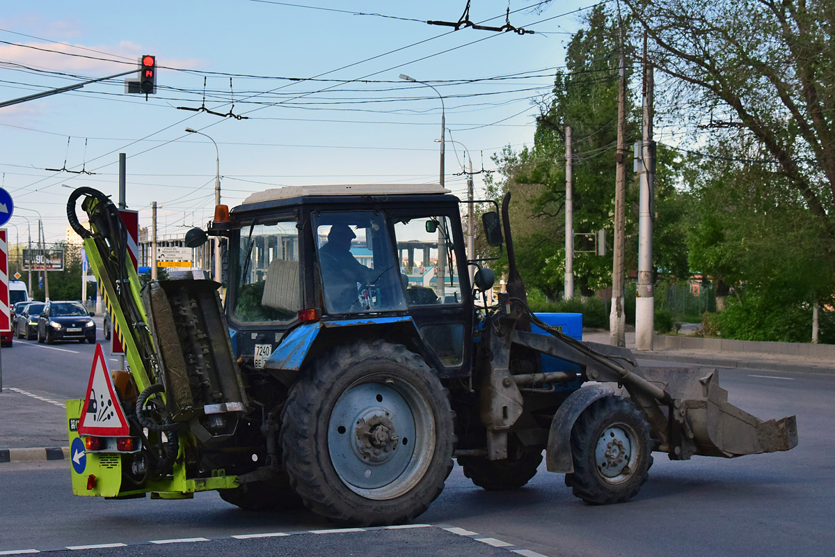
<path fill-rule="evenodd" d="M 574 145 L 574 230 L 607 230 L 610 238 L 613 232 L 620 36 L 613 14 L 603 6 L 593 8 L 584 23 L 569 43 L 566 68 L 556 74 L 551 98 L 539 103 L 534 148 L 505 149 L 493 158 L 500 177 L 491 185 L 523 200 L 511 214 L 519 272 L 552 298 L 564 287 L 568 125 Z M 634 133 L 635 114 L 630 121 Z M 590 295 L 610 284 L 611 260 L 578 253 L 574 275 L 575 286 Z"/>

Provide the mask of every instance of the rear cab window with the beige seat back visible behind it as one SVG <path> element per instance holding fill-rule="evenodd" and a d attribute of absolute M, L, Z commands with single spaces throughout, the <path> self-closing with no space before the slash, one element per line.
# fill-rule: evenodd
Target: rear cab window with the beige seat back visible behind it
<path fill-rule="evenodd" d="M 301 310 L 296 220 L 263 220 L 240 230 L 237 287 L 230 303 L 238 322 L 289 322 Z"/>

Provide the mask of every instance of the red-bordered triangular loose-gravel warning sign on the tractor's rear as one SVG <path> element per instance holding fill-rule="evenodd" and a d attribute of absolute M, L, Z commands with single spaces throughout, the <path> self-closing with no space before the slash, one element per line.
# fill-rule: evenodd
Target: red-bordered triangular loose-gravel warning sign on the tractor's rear
<path fill-rule="evenodd" d="M 96 344 L 87 397 L 84 398 L 81 420 L 78 422 L 78 434 L 112 437 L 127 437 L 130 434 L 128 421 L 124 419 L 122 406 L 116 397 L 101 344 Z"/>

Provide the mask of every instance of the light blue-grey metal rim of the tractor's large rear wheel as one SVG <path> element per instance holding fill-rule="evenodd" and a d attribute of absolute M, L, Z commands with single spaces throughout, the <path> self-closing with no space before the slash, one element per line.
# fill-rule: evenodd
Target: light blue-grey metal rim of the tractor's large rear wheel
<path fill-rule="evenodd" d="M 327 445 L 339 479 L 367 499 L 407 493 L 426 472 L 435 448 L 426 397 L 402 379 L 363 380 L 331 411 Z"/>

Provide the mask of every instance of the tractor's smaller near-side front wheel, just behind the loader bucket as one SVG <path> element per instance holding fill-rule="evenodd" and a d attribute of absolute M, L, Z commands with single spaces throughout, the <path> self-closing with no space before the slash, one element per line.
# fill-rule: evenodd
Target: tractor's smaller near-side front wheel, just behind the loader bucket
<path fill-rule="evenodd" d="M 650 426 L 633 403 L 600 398 L 571 430 L 574 472 L 565 474 L 565 484 L 586 503 L 625 503 L 648 478 L 651 446 Z"/>

